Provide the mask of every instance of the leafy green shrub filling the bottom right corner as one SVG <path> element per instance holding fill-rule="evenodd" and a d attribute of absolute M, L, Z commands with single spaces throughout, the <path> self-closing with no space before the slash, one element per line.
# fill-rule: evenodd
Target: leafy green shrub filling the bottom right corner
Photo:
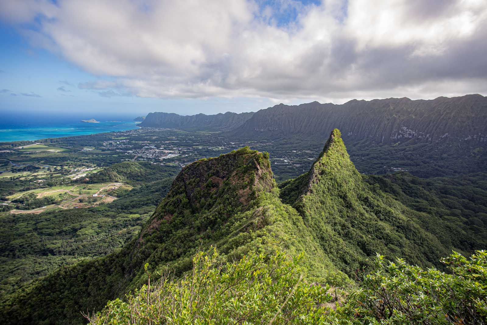
<path fill-rule="evenodd" d="M 454 252 L 442 262 L 451 274 L 378 255 L 342 317 L 360 324 L 487 324 L 487 252 L 469 259 Z"/>

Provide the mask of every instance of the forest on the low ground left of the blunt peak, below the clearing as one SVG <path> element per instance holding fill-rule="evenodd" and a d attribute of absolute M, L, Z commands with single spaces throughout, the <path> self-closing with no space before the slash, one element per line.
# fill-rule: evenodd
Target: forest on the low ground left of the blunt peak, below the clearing
<path fill-rule="evenodd" d="M 127 191 L 88 209 L 0 215 L 0 296 L 61 266 L 105 256 L 122 247 L 148 220 L 172 178 Z"/>

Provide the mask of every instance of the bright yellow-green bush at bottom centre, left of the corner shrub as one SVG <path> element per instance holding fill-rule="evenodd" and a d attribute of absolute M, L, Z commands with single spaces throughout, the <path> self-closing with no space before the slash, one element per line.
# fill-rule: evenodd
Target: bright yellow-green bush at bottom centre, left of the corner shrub
<path fill-rule="evenodd" d="M 309 285 L 299 267 L 282 252 L 249 254 L 220 263 L 216 249 L 193 258 L 182 280 L 167 276 L 141 287 L 127 302 L 111 301 L 91 324 L 316 324 L 331 300 L 327 287 Z"/>

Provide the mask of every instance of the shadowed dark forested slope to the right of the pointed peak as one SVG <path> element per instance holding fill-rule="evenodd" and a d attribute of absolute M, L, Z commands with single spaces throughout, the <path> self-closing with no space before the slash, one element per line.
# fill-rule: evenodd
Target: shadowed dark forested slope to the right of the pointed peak
<path fill-rule="evenodd" d="M 444 246 L 463 253 L 487 247 L 486 173 L 421 179 L 397 172 L 364 180 L 415 210 Z"/>

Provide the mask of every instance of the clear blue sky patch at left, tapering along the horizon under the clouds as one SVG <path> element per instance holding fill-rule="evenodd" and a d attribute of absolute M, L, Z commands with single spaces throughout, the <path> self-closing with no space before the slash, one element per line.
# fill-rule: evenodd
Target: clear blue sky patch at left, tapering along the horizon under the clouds
<path fill-rule="evenodd" d="M 103 97 L 78 84 L 110 76 L 96 76 L 48 50 L 32 46 L 19 31 L 0 24 L 0 105 L 4 112 L 35 116 L 73 113 L 79 116 L 146 115 L 169 112 L 183 115 L 251 112 L 274 105 L 265 98 L 143 98 Z M 24 94 L 24 95 L 22 95 Z M 26 96 L 25 94 L 29 95 Z M 103 114 L 100 113 L 103 112 Z M 135 117 L 135 116 L 134 116 Z"/>

